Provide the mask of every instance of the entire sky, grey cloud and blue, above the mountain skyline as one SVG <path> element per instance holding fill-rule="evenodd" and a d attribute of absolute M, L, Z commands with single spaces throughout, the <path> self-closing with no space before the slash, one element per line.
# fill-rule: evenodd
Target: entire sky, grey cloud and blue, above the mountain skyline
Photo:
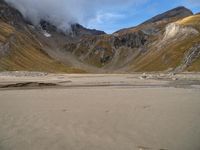
<path fill-rule="evenodd" d="M 113 33 L 162 12 L 185 6 L 200 12 L 200 0 L 6 0 L 37 25 L 41 19 L 62 30 L 73 23 Z"/>

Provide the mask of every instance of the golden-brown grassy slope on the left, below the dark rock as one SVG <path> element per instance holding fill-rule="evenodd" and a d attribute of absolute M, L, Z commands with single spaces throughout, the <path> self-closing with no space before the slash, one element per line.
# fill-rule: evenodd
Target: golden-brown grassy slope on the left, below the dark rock
<path fill-rule="evenodd" d="M 9 43 L 9 53 L 0 58 L 1 71 L 84 72 L 51 59 L 29 33 L 16 31 L 4 22 L 0 22 L 0 42 Z"/>

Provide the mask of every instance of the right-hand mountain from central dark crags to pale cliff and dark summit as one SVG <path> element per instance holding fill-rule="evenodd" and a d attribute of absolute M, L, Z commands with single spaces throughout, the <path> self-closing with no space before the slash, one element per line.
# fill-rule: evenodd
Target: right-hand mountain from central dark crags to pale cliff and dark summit
<path fill-rule="evenodd" d="M 188 9 L 178 7 L 136 27 L 112 35 L 88 37 L 78 45 L 73 44 L 74 47 L 65 47 L 82 62 L 108 71 L 198 71 L 200 66 L 193 62 L 199 57 L 192 57 L 186 67 L 178 67 L 189 57 L 185 53 L 198 47 L 199 18 Z M 182 20 L 191 21 L 180 24 Z"/>

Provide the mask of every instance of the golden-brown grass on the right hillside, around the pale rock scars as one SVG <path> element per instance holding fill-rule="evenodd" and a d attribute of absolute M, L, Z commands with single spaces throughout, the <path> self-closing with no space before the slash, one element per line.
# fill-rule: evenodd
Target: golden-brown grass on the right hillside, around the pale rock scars
<path fill-rule="evenodd" d="M 200 15 L 187 17 L 177 23 L 184 26 L 192 26 L 200 31 Z M 200 35 L 189 37 L 182 41 L 172 42 L 163 46 L 160 50 L 151 48 L 149 53 L 141 55 L 134 60 L 131 70 L 134 71 L 164 71 L 176 68 L 182 62 L 184 54 L 195 44 L 200 43 Z M 200 58 L 189 68 L 189 71 L 200 71 Z"/>

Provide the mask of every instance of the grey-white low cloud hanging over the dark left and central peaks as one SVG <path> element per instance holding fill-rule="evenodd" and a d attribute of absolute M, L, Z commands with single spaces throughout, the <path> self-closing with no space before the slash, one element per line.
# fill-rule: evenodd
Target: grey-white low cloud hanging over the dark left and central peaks
<path fill-rule="evenodd" d="M 88 25 L 103 22 L 122 15 L 116 12 L 127 7 L 138 6 L 148 0 L 6 0 L 23 16 L 37 25 L 45 19 L 62 30 L 73 23 Z M 91 25 L 88 25 L 91 26 Z"/>

